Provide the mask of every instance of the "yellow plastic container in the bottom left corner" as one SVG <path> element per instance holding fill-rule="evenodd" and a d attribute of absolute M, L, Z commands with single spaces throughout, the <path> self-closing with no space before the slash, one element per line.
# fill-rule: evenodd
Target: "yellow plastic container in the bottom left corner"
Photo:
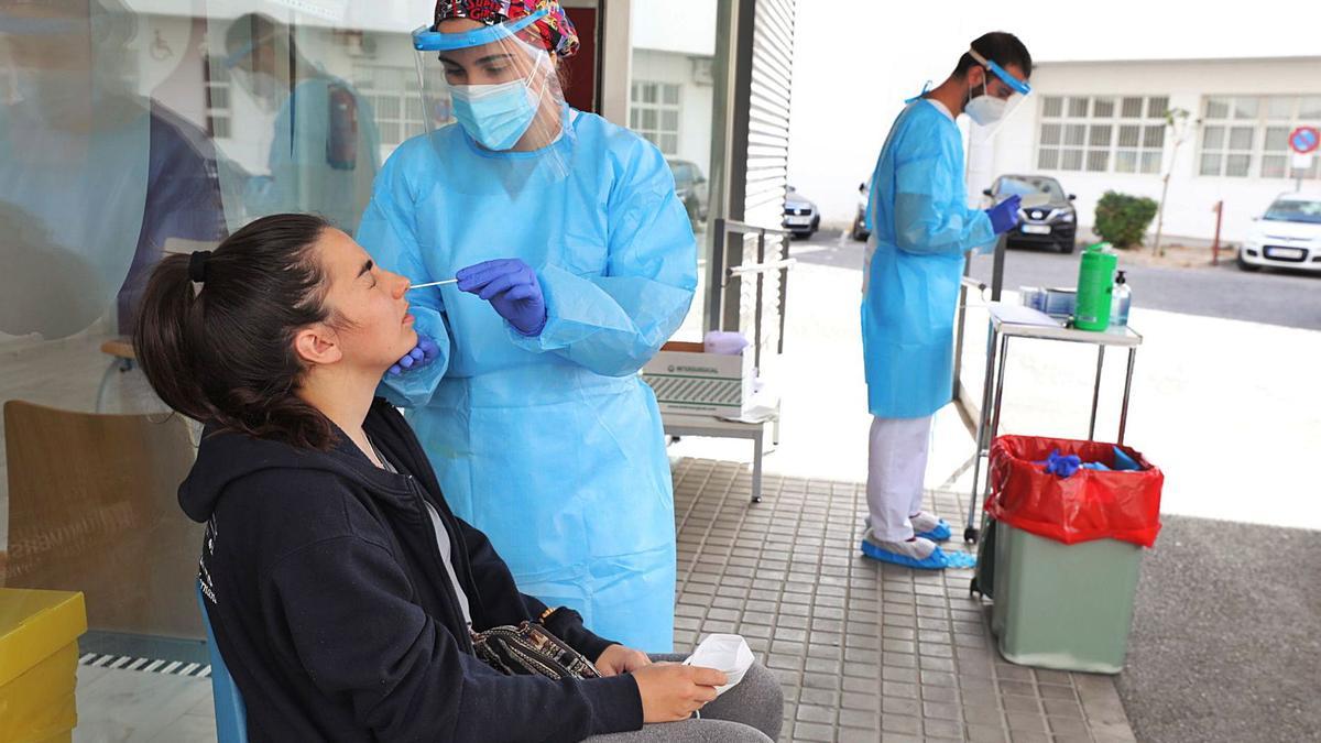
<path fill-rule="evenodd" d="M 78 724 L 81 592 L 0 588 L 0 739 L 71 740 Z"/>

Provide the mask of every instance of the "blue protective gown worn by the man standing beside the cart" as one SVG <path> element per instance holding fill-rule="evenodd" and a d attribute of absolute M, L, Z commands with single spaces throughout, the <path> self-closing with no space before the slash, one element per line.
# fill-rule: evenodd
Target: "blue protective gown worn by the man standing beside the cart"
<path fill-rule="evenodd" d="M 894 120 L 867 212 L 868 409 L 878 418 L 931 415 L 950 402 L 954 386 L 963 254 L 995 245 L 991 218 L 968 208 L 963 135 L 937 104 L 918 99 Z"/>

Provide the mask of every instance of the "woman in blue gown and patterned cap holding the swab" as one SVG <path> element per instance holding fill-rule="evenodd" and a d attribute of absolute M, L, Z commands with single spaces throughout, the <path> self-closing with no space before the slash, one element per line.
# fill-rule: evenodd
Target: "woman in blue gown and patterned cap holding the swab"
<path fill-rule="evenodd" d="M 557 3 L 449 1 L 415 32 L 437 126 L 386 161 L 359 242 L 413 284 L 383 393 L 519 588 L 672 646 L 674 496 L 638 369 L 688 312 L 696 246 L 660 152 L 569 108 Z M 425 356 L 424 356 L 425 352 Z"/>

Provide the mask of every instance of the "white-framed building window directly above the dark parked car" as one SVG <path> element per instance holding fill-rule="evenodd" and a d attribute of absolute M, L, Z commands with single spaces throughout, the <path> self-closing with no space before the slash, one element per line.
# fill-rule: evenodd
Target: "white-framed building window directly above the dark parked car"
<path fill-rule="evenodd" d="M 1041 103 L 1037 167 L 1159 173 L 1168 110 L 1165 95 L 1048 95 Z"/>

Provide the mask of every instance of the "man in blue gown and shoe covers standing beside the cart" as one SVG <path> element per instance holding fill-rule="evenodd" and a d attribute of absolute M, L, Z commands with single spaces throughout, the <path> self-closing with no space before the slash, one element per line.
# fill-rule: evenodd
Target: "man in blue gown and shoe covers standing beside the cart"
<path fill-rule="evenodd" d="M 931 419 L 954 386 L 954 313 L 964 254 L 1018 222 L 1018 198 L 968 208 L 955 119 L 996 126 L 1030 89 L 1032 57 L 1015 36 L 972 42 L 955 71 L 908 102 L 872 175 L 863 284 L 863 357 L 872 430 L 863 554 L 921 568 L 966 566 L 942 551 L 945 520 L 923 510 Z"/>

